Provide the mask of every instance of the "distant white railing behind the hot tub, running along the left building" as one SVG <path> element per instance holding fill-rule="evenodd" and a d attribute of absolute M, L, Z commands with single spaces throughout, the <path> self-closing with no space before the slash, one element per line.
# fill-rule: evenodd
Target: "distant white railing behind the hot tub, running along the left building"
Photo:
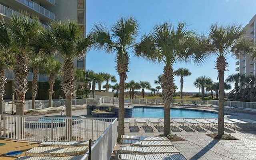
<path fill-rule="evenodd" d="M 49 100 L 36 100 L 36 108 L 40 108 L 39 104 L 42 103 L 42 108 L 49 106 Z M 104 98 L 86 98 L 86 99 L 72 99 L 72 105 L 92 105 L 103 104 Z M 52 100 L 53 107 L 60 107 L 66 105 L 66 100 Z M 12 109 L 13 108 L 13 109 Z M 32 100 L 25 101 L 25 111 L 32 109 Z M 16 105 L 13 105 L 11 101 L 4 102 L 3 113 L 16 112 Z"/>

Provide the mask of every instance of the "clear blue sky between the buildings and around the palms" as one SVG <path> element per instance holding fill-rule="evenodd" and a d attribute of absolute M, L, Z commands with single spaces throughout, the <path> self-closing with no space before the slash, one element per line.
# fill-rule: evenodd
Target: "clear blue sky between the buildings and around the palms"
<path fill-rule="evenodd" d="M 177 24 L 179 21 L 186 21 L 190 29 L 198 33 L 205 33 L 213 23 L 239 23 L 245 26 L 256 14 L 256 0 L 87 0 L 86 1 L 86 32 L 88 33 L 94 23 L 106 23 L 111 26 L 121 16 L 134 16 L 140 23 L 140 34 L 149 33 L 154 25 L 164 21 L 171 21 Z M 130 53 L 129 72 L 126 82 L 148 81 L 152 88 L 157 85 L 154 80 L 163 73 L 164 66 L 153 64 L 143 59 L 134 57 Z M 237 73 L 235 68 L 236 59 L 227 57 L 229 66 L 225 71 L 224 78 Z M 115 53 L 104 53 L 91 50 L 86 54 L 86 69 L 94 72 L 107 72 L 116 76 L 119 82 L 118 73 L 115 70 Z M 192 64 L 176 64 L 178 68 L 188 68 L 191 76 L 184 77 L 183 92 L 199 92 L 199 88 L 193 82 L 199 76 L 212 78 L 217 82 L 218 72 L 215 68 L 216 57 L 209 57 L 208 61 L 197 66 Z M 174 77 L 175 85 L 180 91 L 180 77 Z M 105 82 L 103 84 L 106 84 Z M 98 86 L 96 86 L 98 88 Z M 234 84 L 232 84 L 234 88 Z M 228 92 L 228 91 L 225 91 Z"/>

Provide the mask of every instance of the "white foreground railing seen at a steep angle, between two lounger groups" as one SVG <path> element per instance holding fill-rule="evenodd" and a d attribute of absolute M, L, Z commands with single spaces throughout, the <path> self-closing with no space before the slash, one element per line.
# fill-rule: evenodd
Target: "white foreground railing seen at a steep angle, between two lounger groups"
<path fill-rule="evenodd" d="M 91 160 L 109 160 L 117 140 L 117 119 L 115 119 L 106 131 L 96 140 L 91 148 Z M 88 160 L 88 152 L 81 158 Z"/>

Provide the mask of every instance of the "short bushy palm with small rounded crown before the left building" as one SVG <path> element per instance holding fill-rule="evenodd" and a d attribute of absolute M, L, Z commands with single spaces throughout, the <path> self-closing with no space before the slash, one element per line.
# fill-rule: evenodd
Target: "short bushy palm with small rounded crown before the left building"
<path fill-rule="evenodd" d="M 55 59 L 54 57 L 48 57 L 46 63 L 42 65 L 41 72 L 49 76 L 49 104 L 48 107 L 52 107 L 52 95 L 54 94 L 53 85 L 55 82 L 56 76 L 61 76 L 62 73 L 62 63 Z"/>

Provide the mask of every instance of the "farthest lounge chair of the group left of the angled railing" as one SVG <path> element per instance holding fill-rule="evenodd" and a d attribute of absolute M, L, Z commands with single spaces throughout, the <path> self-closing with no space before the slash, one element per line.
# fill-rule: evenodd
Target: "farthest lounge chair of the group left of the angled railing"
<path fill-rule="evenodd" d="M 88 146 L 89 141 L 66 141 L 66 140 L 47 140 L 39 146 Z"/>

